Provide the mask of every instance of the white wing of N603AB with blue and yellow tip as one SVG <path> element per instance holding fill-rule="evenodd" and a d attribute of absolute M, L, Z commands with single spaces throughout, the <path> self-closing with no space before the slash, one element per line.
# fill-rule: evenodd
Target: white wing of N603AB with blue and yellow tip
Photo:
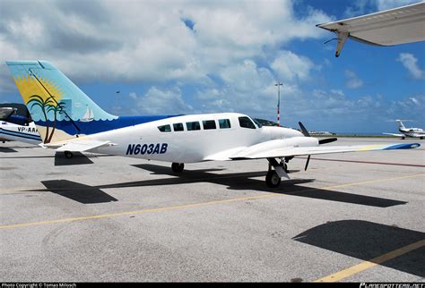
<path fill-rule="evenodd" d="M 320 147 L 284 147 L 263 150 L 256 145 L 256 150 L 253 151 L 246 148 L 238 154 L 230 157 L 232 160 L 243 159 L 258 159 L 258 158 L 279 158 L 279 157 L 294 157 L 304 155 L 317 155 L 317 154 L 333 154 L 345 152 L 362 152 L 373 150 L 394 150 L 394 149 L 410 149 L 418 148 L 421 146 L 419 143 L 396 143 L 396 144 L 373 144 L 373 145 L 355 145 L 355 146 L 320 146 Z"/>

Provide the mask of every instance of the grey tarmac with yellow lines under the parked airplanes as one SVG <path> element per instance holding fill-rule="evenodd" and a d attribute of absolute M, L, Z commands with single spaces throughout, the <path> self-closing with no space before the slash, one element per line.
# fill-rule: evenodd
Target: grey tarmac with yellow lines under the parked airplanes
<path fill-rule="evenodd" d="M 265 160 L 55 157 L 0 144 L 0 282 L 424 282 L 421 148 Z"/>

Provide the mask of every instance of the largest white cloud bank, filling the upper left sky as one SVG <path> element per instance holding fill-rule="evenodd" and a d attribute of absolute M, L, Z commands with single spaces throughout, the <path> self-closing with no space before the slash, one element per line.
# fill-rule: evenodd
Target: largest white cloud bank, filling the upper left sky
<path fill-rule="evenodd" d="M 0 55 L 45 59 L 85 82 L 210 83 L 223 67 L 264 57 L 265 47 L 321 37 L 314 24 L 324 21 L 312 8 L 296 17 L 289 0 L 4 0 Z"/>

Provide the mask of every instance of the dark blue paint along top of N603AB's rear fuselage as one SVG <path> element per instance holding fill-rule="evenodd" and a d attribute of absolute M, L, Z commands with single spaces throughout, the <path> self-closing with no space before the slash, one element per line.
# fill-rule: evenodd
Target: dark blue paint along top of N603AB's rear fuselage
<path fill-rule="evenodd" d="M 75 134 L 95 134 L 103 131 L 110 131 L 114 129 L 134 126 L 137 124 L 150 123 L 161 119 L 176 117 L 179 115 L 148 115 L 148 116 L 124 116 L 118 117 L 114 120 L 93 120 L 90 122 L 74 121 L 75 125 L 80 129 L 78 131 L 71 121 L 56 121 L 56 129 L 65 131 L 70 135 Z M 46 126 L 45 121 L 37 121 L 37 125 Z M 53 127 L 54 123 L 48 121 L 48 127 Z"/>

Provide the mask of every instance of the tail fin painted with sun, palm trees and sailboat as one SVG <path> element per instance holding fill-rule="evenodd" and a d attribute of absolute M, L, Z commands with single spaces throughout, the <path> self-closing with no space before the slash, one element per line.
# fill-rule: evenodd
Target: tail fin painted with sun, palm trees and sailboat
<path fill-rule="evenodd" d="M 69 140 L 91 121 L 117 119 L 46 61 L 6 61 L 43 143 Z"/>

